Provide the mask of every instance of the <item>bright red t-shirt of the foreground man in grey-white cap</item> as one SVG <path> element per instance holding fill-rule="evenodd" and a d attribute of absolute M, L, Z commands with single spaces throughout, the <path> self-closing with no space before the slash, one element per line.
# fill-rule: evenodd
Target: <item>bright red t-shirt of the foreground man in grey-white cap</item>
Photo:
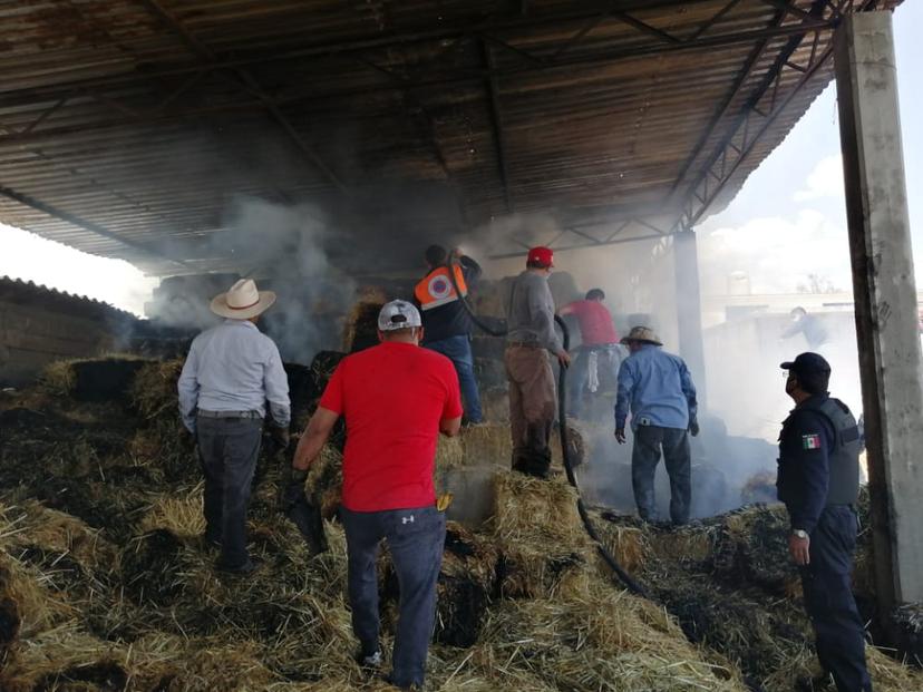
<path fill-rule="evenodd" d="M 382 511 L 436 501 L 439 421 L 462 416 L 448 358 L 411 343 L 380 343 L 342 360 L 320 406 L 346 418 L 343 507 Z"/>

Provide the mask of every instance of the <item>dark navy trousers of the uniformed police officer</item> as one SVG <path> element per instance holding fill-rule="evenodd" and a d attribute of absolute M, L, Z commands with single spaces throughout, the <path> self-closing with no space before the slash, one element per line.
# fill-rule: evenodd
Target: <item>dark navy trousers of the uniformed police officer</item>
<path fill-rule="evenodd" d="M 826 507 L 810 533 L 810 564 L 801 567 L 805 610 L 817 636 L 817 657 L 839 692 L 872 690 L 864 628 L 849 576 L 856 524 L 852 507 Z"/>

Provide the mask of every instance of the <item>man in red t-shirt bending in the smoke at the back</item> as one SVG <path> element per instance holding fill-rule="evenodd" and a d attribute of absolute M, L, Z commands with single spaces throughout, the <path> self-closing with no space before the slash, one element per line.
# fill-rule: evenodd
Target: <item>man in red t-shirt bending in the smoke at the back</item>
<path fill-rule="evenodd" d="M 603 305 L 605 293 L 602 289 L 591 289 L 582 301 L 574 301 L 561 310 L 561 314 L 576 316 L 580 325 L 581 345 L 569 377 L 567 397 L 571 415 L 579 418 L 583 409 L 583 399 L 587 390 L 595 393 L 600 389 L 600 376 L 609 377 L 614 387 L 622 362 L 619 334 L 612 323 L 609 309 Z"/>

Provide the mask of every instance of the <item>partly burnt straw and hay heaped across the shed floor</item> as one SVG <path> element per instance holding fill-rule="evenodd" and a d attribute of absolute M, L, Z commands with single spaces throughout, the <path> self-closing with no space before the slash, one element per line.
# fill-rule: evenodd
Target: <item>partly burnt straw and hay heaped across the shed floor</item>
<path fill-rule="evenodd" d="M 329 377 L 340 358 L 331 354 L 317 374 Z M 216 554 L 198 539 L 201 475 L 178 445 L 169 368 L 143 364 L 138 376 L 162 387 L 162 399 L 77 406 L 42 394 L 36 410 L 0 412 L 0 480 L 13 488 L 0 496 L 0 689 L 389 689 L 351 657 L 342 527 L 326 522 L 330 549 L 310 555 L 279 513 L 279 458 L 261 458 L 249 514 L 258 571 L 213 571 Z M 309 374 L 319 391 L 313 364 Z M 460 454 L 441 450 L 441 464 L 508 465 L 506 427 L 466 429 L 455 441 Z M 329 445 L 308 480 L 327 496 L 328 517 L 341 470 Z M 497 516 L 483 530 L 449 524 L 433 689 L 725 692 L 744 689 L 742 670 L 754 688 L 788 692 L 810 674 L 807 620 L 778 593 L 771 562 L 785 527 L 773 510 L 680 530 L 597 522 L 660 598 L 654 605 L 601 578 L 562 478 L 499 472 L 495 495 Z M 392 624 L 385 618 L 386 659 Z M 923 689 L 917 673 L 877 652 L 869 666 L 876 689 Z"/>

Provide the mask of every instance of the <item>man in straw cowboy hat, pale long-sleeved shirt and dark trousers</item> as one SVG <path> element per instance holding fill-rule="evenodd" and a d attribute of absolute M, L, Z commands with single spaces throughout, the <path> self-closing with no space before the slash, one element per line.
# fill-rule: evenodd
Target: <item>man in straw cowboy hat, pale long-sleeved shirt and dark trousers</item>
<path fill-rule="evenodd" d="M 205 538 L 221 547 L 216 567 L 247 574 L 254 566 L 246 552 L 246 508 L 263 432 L 266 402 L 270 431 L 289 444 L 289 381 L 279 349 L 256 329 L 275 302 L 272 291 L 258 291 L 241 279 L 212 300 L 224 318 L 198 334 L 179 376 L 179 413 L 198 442 L 205 475 Z"/>

